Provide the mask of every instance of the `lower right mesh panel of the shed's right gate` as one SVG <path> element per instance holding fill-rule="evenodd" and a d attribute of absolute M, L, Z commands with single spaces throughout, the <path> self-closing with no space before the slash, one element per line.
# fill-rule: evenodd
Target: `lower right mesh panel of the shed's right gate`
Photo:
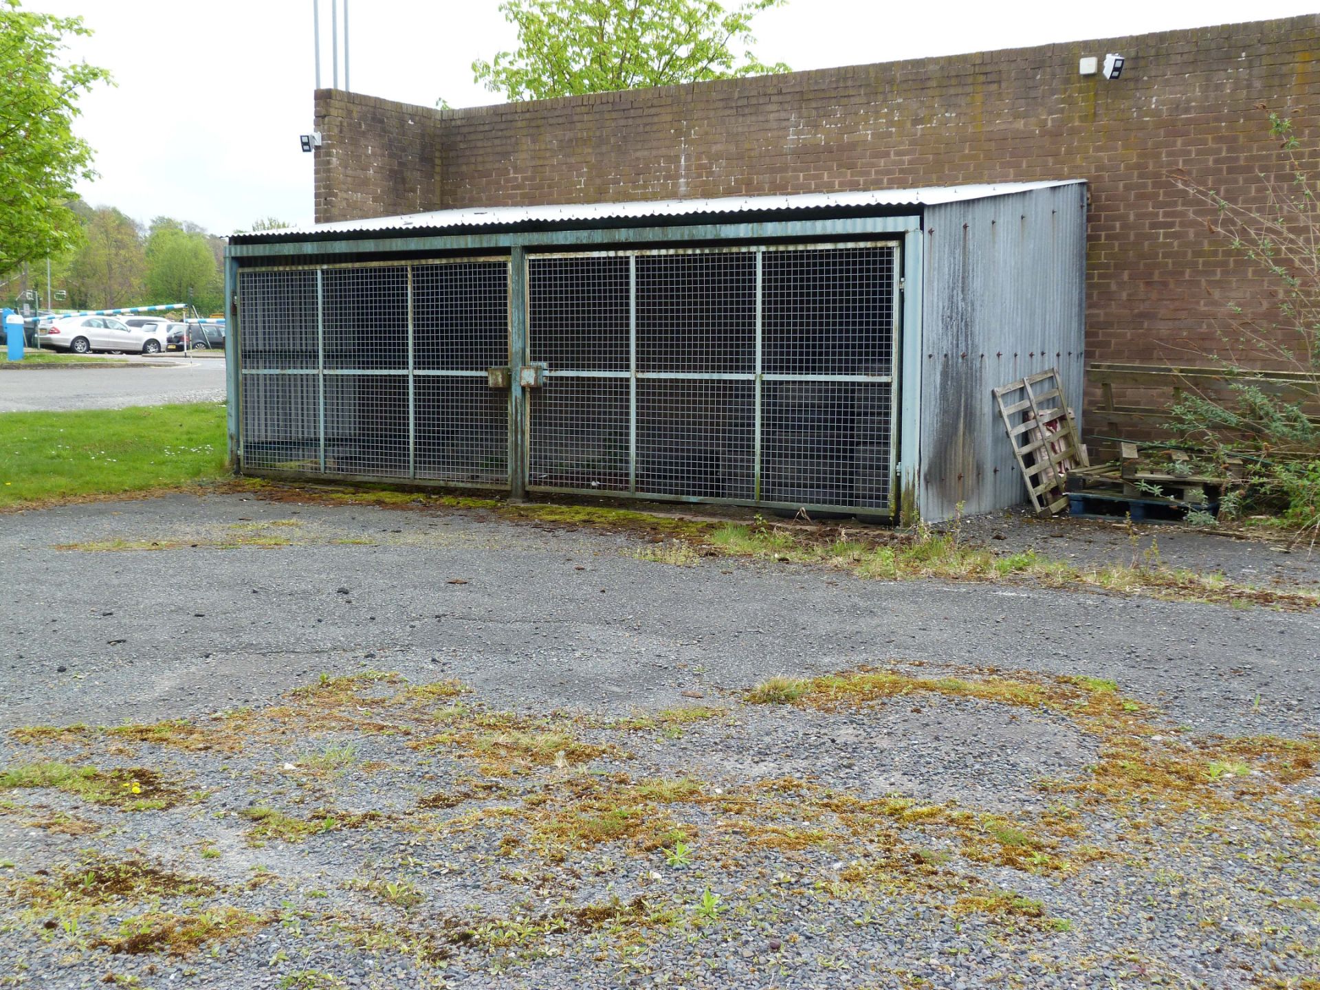
<path fill-rule="evenodd" d="M 888 507 L 890 384 L 767 381 L 763 388 L 763 499 Z"/>

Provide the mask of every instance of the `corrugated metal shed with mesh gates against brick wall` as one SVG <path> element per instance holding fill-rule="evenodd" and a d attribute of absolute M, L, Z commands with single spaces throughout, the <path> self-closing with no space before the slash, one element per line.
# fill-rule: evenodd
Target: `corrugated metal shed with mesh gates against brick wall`
<path fill-rule="evenodd" d="M 1086 183 L 442 210 L 236 235 L 244 471 L 939 521 L 1081 401 Z"/>

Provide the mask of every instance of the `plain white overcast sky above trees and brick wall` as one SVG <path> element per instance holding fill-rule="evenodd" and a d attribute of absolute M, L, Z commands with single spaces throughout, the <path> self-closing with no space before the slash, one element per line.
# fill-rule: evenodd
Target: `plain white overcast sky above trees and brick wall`
<path fill-rule="evenodd" d="M 330 3 L 321 0 L 322 84 Z M 96 33 L 73 58 L 108 67 L 77 132 L 100 178 L 81 191 L 140 220 L 169 215 L 216 234 L 260 216 L 312 220 L 312 0 L 25 0 L 82 15 Z M 498 0 L 350 0 L 352 90 L 454 107 L 498 102 L 474 58 L 512 48 Z M 793 69 L 888 62 L 1311 13 L 1315 0 L 1107 0 L 1015 4 L 789 0 L 756 21 L 756 54 Z M 1104 55 L 1104 51 L 1096 54 Z M 1131 54 L 1131 53 L 1125 53 Z M 341 77 L 341 84 L 343 79 Z"/>

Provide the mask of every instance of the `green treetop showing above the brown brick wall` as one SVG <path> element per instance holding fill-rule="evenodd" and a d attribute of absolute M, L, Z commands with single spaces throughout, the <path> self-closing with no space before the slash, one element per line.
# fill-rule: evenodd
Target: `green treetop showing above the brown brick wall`
<path fill-rule="evenodd" d="M 726 11 L 718 0 L 504 0 L 517 50 L 478 59 L 473 73 L 510 100 L 787 73 L 747 50 L 752 18 L 784 1 Z"/>

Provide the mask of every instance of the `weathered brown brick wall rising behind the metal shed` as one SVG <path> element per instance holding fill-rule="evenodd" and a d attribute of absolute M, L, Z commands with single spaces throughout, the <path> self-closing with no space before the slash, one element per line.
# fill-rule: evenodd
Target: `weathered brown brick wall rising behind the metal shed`
<path fill-rule="evenodd" d="M 1317 41 L 1311 15 L 454 111 L 319 91 L 317 219 L 1086 178 L 1090 356 L 1193 363 L 1262 282 L 1168 173 L 1259 199 L 1259 104 L 1315 147 Z M 1077 74 L 1106 51 L 1119 81 Z"/>

